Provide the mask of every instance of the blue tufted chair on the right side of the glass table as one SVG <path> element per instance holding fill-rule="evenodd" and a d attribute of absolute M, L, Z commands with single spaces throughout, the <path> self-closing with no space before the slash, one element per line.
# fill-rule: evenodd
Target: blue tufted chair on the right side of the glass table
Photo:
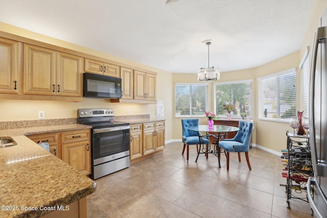
<path fill-rule="evenodd" d="M 252 135 L 253 123 L 240 120 L 239 128 L 240 130 L 236 133 L 236 136 L 234 138 L 219 141 L 219 147 L 226 152 L 227 171 L 229 170 L 229 152 L 238 152 L 239 162 L 241 162 L 240 152 L 245 152 L 246 162 L 249 169 L 251 170 L 248 151 L 250 149 L 250 139 Z"/>

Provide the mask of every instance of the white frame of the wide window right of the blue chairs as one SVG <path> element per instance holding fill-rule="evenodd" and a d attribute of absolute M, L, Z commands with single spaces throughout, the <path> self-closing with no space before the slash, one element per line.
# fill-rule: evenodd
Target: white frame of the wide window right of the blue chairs
<path fill-rule="evenodd" d="M 262 90 L 261 90 L 261 84 L 260 81 L 262 80 L 267 80 L 267 79 L 272 79 L 272 78 L 277 78 L 277 77 L 282 77 L 288 74 L 294 74 L 294 89 L 295 89 L 295 96 L 294 96 L 294 100 L 295 100 L 295 107 L 296 107 L 296 68 L 291 68 L 291 69 L 287 69 L 287 70 L 283 70 L 280 72 L 276 72 L 275 74 L 270 74 L 264 77 L 260 77 L 257 78 L 258 81 L 258 120 L 269 120 L 269 121 L 273 121 L 273 122 L 281 122 L 281 123 L 288 123 L 290 121 L 290 118 L 284 119 L 284 118 L 268 118 L 268 117 L 263 117 L 263 102 L 261 101 L 261 96 L 262 96 Z M 276 100 L 277 102 L 279 101 L 278 99 Z M 280 111 L 277 111 L 277 114 L 280 113 Z M 296 114 L 294 115 L 296 116 Z"/>

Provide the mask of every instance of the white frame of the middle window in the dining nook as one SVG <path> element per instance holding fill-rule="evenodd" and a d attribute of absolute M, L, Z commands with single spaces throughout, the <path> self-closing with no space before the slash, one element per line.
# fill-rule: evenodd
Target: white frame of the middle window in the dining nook
<path fill-rule="evenodd" d="M 248 80 L 236 80 L 236 81 L 228 81 L 228 82 L 218 82 L 218 83 L 214 83 L 214 111 L 215 113 L 217 113 L 217 98 L 216 98 L 216 86 L 217 85 L 232 85 L 232 84 L 240 84 L 240 83 L 250 83 L 250 114 L 247 115 L 246 117 L 251 119 L 252 118 L 252 113 L 253 113 L 253 103 L 252 103 L 252 99 L 253 99 L 253 80 L 252 79 L 248 79 Z M 232 101 L 232 100 L 231 100 Z M 219 118 L 227 118 L 227 116 L 225 115 L 219 115 Z M 241 115 L 233 115 L 233 118 L 242 118 Z"/>

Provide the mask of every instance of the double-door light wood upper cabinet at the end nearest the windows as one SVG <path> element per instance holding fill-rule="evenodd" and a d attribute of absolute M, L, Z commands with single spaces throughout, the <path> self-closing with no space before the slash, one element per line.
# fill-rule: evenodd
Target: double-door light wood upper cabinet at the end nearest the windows
<path fill-rule="evenodd" d="M 156 75 L 134 70 L 134 99 L 156 100 Z"/>

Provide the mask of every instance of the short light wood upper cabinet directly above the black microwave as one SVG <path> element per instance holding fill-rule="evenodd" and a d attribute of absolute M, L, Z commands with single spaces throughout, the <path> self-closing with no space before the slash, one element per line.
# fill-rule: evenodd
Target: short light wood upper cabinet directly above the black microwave
<path fill-rule="evenodd" d="M 85 71 L 119 78 L 120 66 L 85 58 Z"/>

